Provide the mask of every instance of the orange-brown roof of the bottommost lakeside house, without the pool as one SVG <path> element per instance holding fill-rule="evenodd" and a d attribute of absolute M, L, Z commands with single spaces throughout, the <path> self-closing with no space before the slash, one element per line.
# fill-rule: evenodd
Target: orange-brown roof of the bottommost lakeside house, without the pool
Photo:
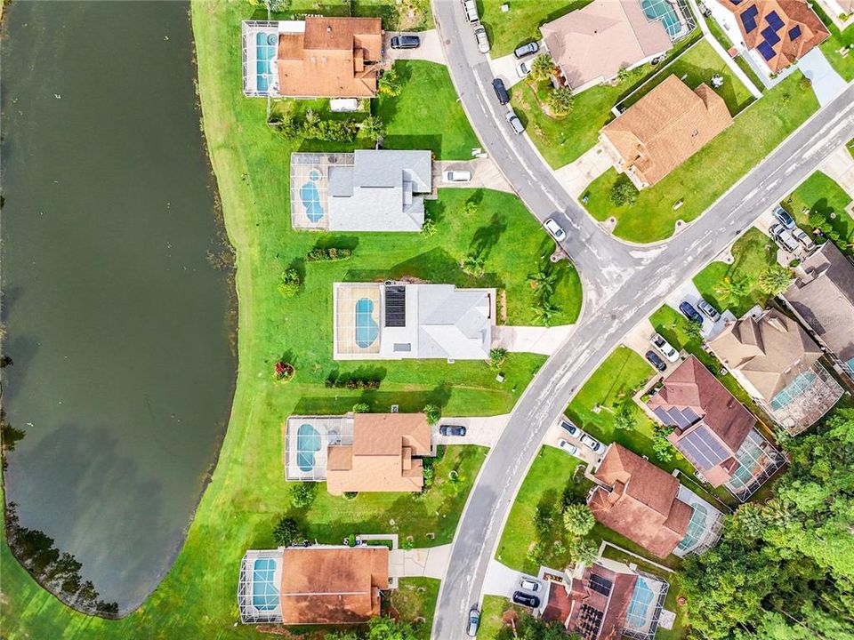
<path fill-rule="evenodd" d="M 389 549 L 286 548 L 279 599 L 284 624 L 355 624 L 380 614 Z"/>

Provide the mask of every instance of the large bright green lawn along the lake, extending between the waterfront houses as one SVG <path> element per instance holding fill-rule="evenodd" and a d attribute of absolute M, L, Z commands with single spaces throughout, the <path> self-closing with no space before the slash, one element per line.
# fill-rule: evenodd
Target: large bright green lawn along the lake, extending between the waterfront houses
<path fill-rule="evenodd" d="M 431 402 L 442 405 L 449 414 L 492 414 L 510 411 L 544 362 L 544 356 L 510 356 L 504 383 L 496 381 L 495 372 L 479 362 L 408 361 L 370 366 L 333 362 L 331 291 L 335 280 L 392 271 L 415 273 L 432 268 L 431 260 L 447 269 L 443 273 L 451 273 L 447 263 L 455 260 L 456 251 L 472 242 L 486 251 L 493 243 L 487 275 L 505 274 L 495 280 L 506 280 L 509 313 L 514 319 L 525 319 L 530 313 L 529 293 L 523 292 L 526 274 L 540 259 L 546 236 L 512 196 L 483 192 L 476 218 L 464 221 L 451 215 L 454 203 L 460 202 L 456 198 L 477 196 L 474 191 L 454 193 L 447 199 L 443 192 L 431 204 L 447 205 L 447 215 L 440 216 L 438 232 L 430 239 L 405 234 L 294 232 L 287 215 L 286 179 L 288 154 L 294 149 L 265 124 L 265 101 L 246 99 L 239 91 L 240 40 L 234 25 L 254 11 L 250 4 L 237 1 L 191 5 L 205 135 L 226 228 L 237 250 L 238 381 L 217 467 L 172 568 L 141 608 L 123 620 L 71 612 L 30 580 L 3 542 L 0 626 L 4 637 L 257 637 L 255 628 L 233 626 L 238 620 L 238 566 L 246 548 L 272 544 L 271 528 L 289 509 L 290 492 L 283 480 L 282 422 L 296 412 L 344 411 L 363 396 L 325 388 L 330 373 L 360 371 L 381 378 L 381 388 L 364 395 L 375 411 L 388 411 L 391 404 L 399 404 L 401 411 L 414 411 Z M 436 132 L 444 130 L 444 123 L 434 122 Z M 476 236 L 482 227 L 488 233 Z M 318 243 L 350 246 L 354 255 L 342 262 L 303 264 L 302 257 Z M 283 269 L 291 264 L 304 272 L 305 284 L 298 295 L 287 300 L 278 291 L 278 282 Z M 512 269 L 505 272 L 508 265 Z M 503 270 L 498 272 L 498 268 Z M 463 282 L 468 276 L 459 273 L 456 277 Z M 514 290 L 518 293 L 513 294 Z M 568 313 L 572 304 L 564 306 Z M 283 355 L 296 368 L 294 380 L 286 385 L 272 380 L 273 363 Z M 319 487 L 316 502 L 301 516 L 303 524 L 321 541 L 340 541 L 344 532 L 358 528 L 397 530 L 401 536 L 413 535 L 417 544 L 447 542 L 482 457 L 479 448 L 452 448 L 441 465 L 450 468 L 458 463 L 463 469 L 463 487 L 449 496 L 438 484 L 434 495 L 428 494 L 422 503 L 399 495 L 359 495 L 348 501 L 328 496 Z M 428 542 L 426 532 L 435 532 L 437 539 Z"/>

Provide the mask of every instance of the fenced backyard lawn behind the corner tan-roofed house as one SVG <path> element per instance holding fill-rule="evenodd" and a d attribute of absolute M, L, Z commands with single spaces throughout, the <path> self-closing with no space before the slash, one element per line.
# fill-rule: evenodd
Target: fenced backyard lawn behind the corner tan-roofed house
<path fill-rule="evenodd" d="M 641 86 L 623 101 L 625 107 L 641 100 L 643 96 L 652 91 L 669 76 L 676 76 L 691 89 L 696 89 L 700 84 L 712 86 L 712 76 L 720 74 L 723 76 L 723 86 L 715 89 L 721 98 L 727 103 L 729 113 L 735 116 L 739 111 L 753 102 L 753 94 L 747 91 L 747 87 L 732 73 L 726 61 L 714 51 L 712 45 L 705 38 L 692 46 L 688 51 L 681 54 L 679 58 L 667 67 L 661 69 L 655 76 L 649 79 L 647 84 Z"/>

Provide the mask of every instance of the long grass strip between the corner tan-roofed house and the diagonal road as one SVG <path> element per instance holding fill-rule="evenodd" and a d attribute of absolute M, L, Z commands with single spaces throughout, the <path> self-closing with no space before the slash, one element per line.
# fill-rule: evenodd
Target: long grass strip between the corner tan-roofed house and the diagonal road
<path fill-rule="evenodd" d="M 695 220 L 818 109 L 812 90 L 799 85 L 802 77 L 796 71 L 766 92 L 705 148 L 643 189 L 634 204 L 611 203 L 618 174 L 609 169 L 588 187 L 588 211 L 596 220 L 616 218 L 614 234 L 625 240 L 649 243 L 673 236 L 676 220 Z M 681 208 L 673 210 L 680 201 Z"/>

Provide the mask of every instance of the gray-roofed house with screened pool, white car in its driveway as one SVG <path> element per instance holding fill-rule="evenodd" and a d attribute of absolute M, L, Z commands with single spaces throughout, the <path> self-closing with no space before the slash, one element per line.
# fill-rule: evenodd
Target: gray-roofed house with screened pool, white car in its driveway
<path fill-rule="evenodd" d="M 424 223 L 430 151 L 291 155 L 291 224 L 326 231 L 410 231 Z"/>

